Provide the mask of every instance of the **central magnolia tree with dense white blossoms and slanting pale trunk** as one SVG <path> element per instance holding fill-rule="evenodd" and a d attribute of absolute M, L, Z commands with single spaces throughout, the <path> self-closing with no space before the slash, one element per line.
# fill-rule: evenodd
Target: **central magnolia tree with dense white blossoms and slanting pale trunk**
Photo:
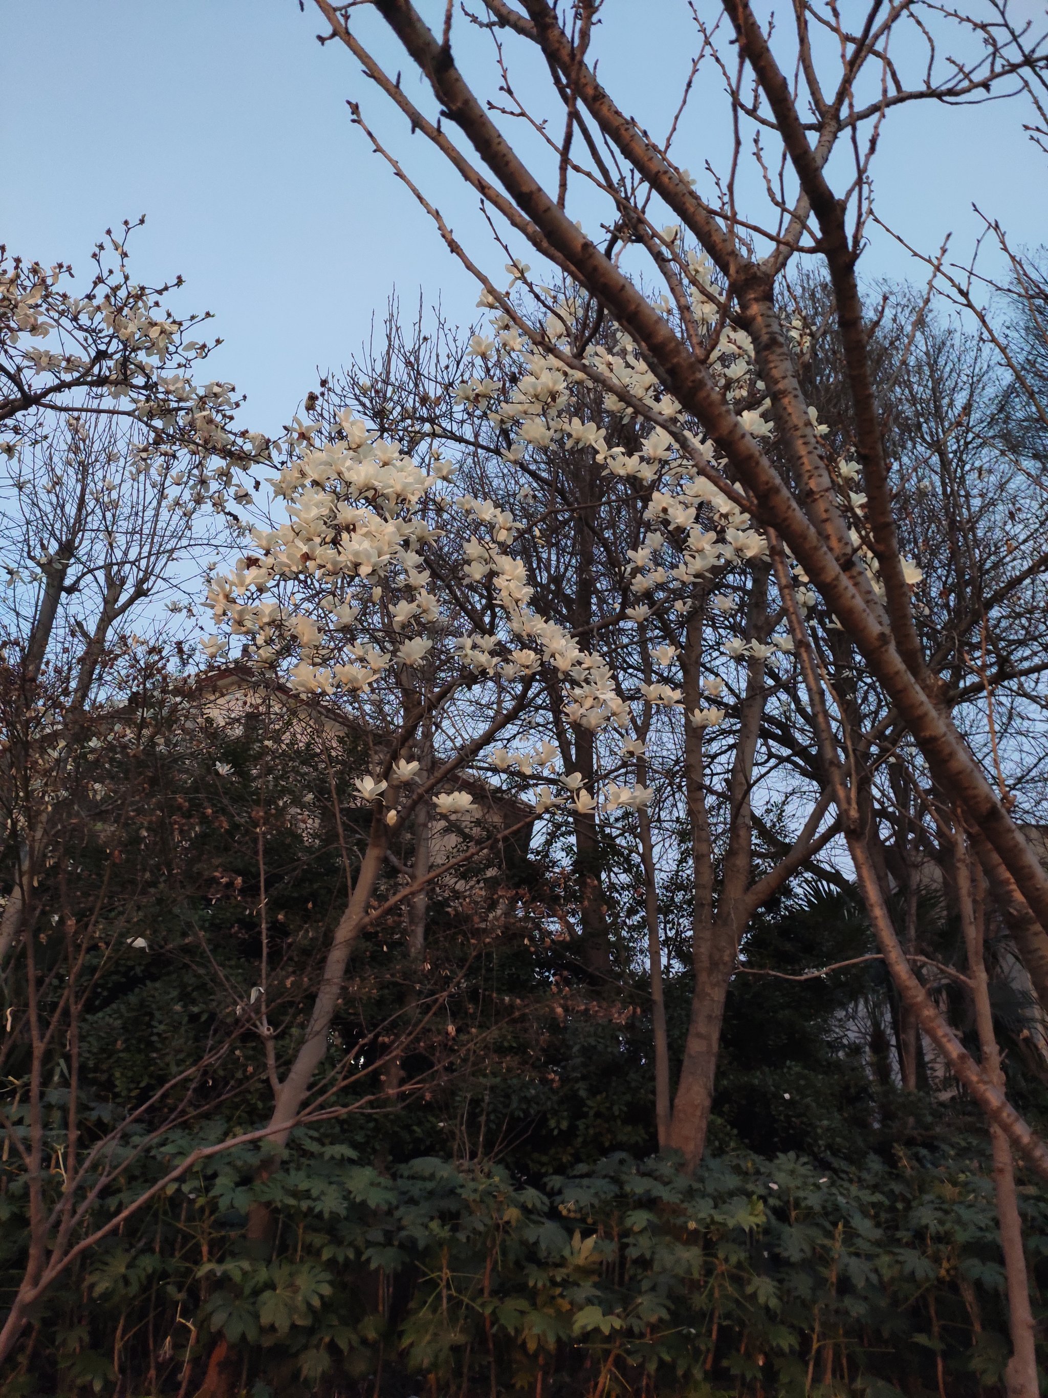
<path fill-rule="evenodd" d="M 277 1148 L 324 1057 L 365 927 L 556 807 L 636 808 L 651 794 L 626 779 L 591 790 L 563 770 L 556 783 L 542 780 L 546 769 L 560 769 L 549 728 L 537 731 L 542 679 L 552 677 L 565 721 L 611 730 L 620 745 L 632 731 L 630 706 L 601 651 L 531 607 L 535 589 L 518 547 L 524 523 L 506 502 L 457 495 L 440 442 L 414 435 L 407 454 L 402 442 L 349 412 L 323 436 L 316 424 L 300 424 L 272 482 L 286 521 L 254 528 L 254 548 L 238 570 L 211 583 L 224 632 L 247 636 L 249 653 L 281 667 L 298 693 L 335 702 L 374 749 L 374 770 L 356 783 L 372 807 L 370 833 L 305 1039 L 281 1082 L 271 1123 Z M 212 654 L 226 644 L 222 632 L 205 642 Z M 534 779 L 528 807 L 495 835 L 485 794 L 465 780 L 481 758 L 489 770 Z M 419 811 L 428 821 L 432 812 L 461 849 L 432 867 L 416 863 L 405 886 L 376 909 L 391 837 Z M 418 844 L 418 823 L 415 833 Z"/>

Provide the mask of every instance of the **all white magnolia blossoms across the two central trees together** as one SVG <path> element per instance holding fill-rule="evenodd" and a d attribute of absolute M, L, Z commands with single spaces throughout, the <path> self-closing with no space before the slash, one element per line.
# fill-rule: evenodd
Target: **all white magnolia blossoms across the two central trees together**
<path fill-rule="evenodd" d="M 722 317 L 708 263 L 693 253 L 682 256 L 693 315 L 714 341 L 710 372 L 745 429 L 773 439 L 770 401 L 749 337 Z M 524 275 L 517 264 L 510 270 L 514 281 Z M 683 688 L 674 674 L 651 675 L 636 692 L 623 693 L 606 656 L 535 610 L 535 577 L 520 545 L 544 542 L 545 526 L 541 510 L 534 524 L 518 517 L 535 503 L 527 464 L 558 447 L 584 449 L 592 452 L 609 488 L 640 499 L 641 537 L 625 551 L 620 579 L 633 604 L 616 625 L 623 619 L 644 625 L 657 611 L 664 618 L 676 612 L 681 621 L 694 605 L 711 605 L 721 622 L 728 621 L 735 598 L 714 597 L 713 590 L 729 570 L 767 568 L 767 540 L 727 484 L 714 445 L 690 429 L 681 404 L 629 337 L 591 340 L 581 351 L 584 368 L 573 366 L 566 361 L 583 308 L 572 295 L 539 291 L 552 306 L 544 344 L 482 298 L 495 312 L 490 334 L 470 341 L 478 370 L 454 394 L 460 408 L 496 429 L 513 507 L 506 500 L 456 498 L 449 484 L 456 467 L 436 446 L 411 456 L 349 414 L 323 442 L 317 425 L 296 422 L 285 466 L 272 482 L 286 519 L 254 530 L 254 549 L 232 573 L 212 579 L 208 600 L 222 632 L 205 643 L 212 656 L 224 653 L 229 635 L 242 635 L 259 660 L 282 665 L 293 689 L 356 703 L 381 699 L 387 716 L 402 702 L 411 672 L 408 688 L 433 691 L 437 677 L 474 695 L 492 686 L 492 710 L 510 707 L 507 693 L 518 693 L 542 674 L 549 692 L 560 696 L 562 721 L 594 735 L 618 733 L 626 744 L 639 741 L 626 737 L 639 731 L 632 703 L 643 703 L 647 714 L 683 713 Z M 794 338 L 802 330 L 789 327 Z M 585 403 L 594 407 L 587 411 Z M 594 414 L 602 421 L 592 421 Z M 813 422 L 824 435 L 827 429 Z M 854 480 L 844 467 L 838 477 L 843 489 Z M 852 493 L 847 503 L 854 513 L 864 502 Z M 796 566 L 795 586 L 801 607 L 810 610 L 816 594 Z M 791 650 L 785 635 L 722 642 L 722 657 L 736 664 L 774 667 Z M 672 644 L 658 646 L 653 660 L 674 670 L 678 654 Z M 693 707 L 685 721 L 697 730 L 720 726 L 728 714 L 717 702 L 722 686 L 720 675 L 707 674 L 710 703 Z M 623 747 L 622 758 L 636 755 Z M 544 742 L 537 751 L 493 748 L 488 765 L 527 784 L 552 773 L 556 758 L 558 749 Z M 580 814 L 611 814 L 653 798 L 648 787 L 611 781 L 590 791 L 577 773 L 556 781 L 556 790 L 538 787 L 539 812 L 572 802 Z M 376 788 L 369 800 L 383 797 L 388 801 L 390 793 Z M 449 815 L 472 802 L 461 791 L 435 800 Z"/>

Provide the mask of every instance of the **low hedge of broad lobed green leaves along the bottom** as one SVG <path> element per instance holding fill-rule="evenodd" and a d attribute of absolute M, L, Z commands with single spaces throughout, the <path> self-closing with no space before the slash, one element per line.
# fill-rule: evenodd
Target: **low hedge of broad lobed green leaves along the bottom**
<path fill-rule="evenodd" d="M 743 1152 L 690 1181 L 613 1155 L 535 1188 L 426 1158 L 380 1173 L 303 1137 L 265 1188 L 265 1257 L 240 1233 L 254 1156 L 228 1155 L 36 1309 L 3 1392 L 176 1394 L 225 1338 L 236 1391 L 286 1398 L 379 1376 L 391 1395 L 535 1392 L 539 1374 L 546 1395 L 887 1398 L 936 1391 L 936 1362 L 974 1395 L 1007 1357 L 975 1149 L 829 1174 Z M 1023 1204 L 1042 1271 L 1048 1209 Z M 10 1265 L 13 1201 L 4 1239 Z"/>

